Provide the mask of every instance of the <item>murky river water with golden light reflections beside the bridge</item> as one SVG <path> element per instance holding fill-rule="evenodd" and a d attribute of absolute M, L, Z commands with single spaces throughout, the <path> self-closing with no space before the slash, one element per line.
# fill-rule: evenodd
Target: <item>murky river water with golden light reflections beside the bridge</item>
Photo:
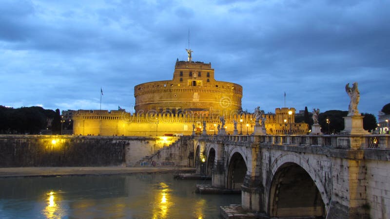
<path fill-rule="evenodd" d="M 241 195 L 196 194 L 173 174 L 0 178 L 0 219 L 219 218 Z"/>

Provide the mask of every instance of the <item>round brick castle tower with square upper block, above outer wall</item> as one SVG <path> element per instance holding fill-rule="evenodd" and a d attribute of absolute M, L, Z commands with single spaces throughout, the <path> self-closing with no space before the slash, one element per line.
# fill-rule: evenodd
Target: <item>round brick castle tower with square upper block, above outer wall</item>
<path fill-rule="evenodd" d="M 172 80 L 139 84 L 134 88 L 136 113 L 180 110 L 225 114 L 240 111 L 242 87 L 216 81 L 211 64 L 176 61 Z"/>

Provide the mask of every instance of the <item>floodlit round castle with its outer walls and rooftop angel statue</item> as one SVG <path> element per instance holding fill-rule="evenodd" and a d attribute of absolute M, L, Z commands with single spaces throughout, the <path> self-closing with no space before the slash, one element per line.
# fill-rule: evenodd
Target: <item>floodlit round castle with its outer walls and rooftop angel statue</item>
<path fill-rule="evenodd" d="M 234 120 L 241 134 L 253 133 L 254 114 L 242 111 L 242 87 L 217 81 L 211 63 L 176 60 L 172 80 L 139 84 L 134 88 L 135 113 L 124 110 L 78 110 L 73 114 L 75 135 L 164 136 L 216 134 L 220 117 L 226 134 L 234 133 Z M 288 111 L 292 115 L 288 115 Z M 295 109 L 276 109 L 266 114 L 268 134 L 283 134 L 287 129 L 304 134 L 308 124 L 295 124 Z M 289 124 L 286 123 L 289 119 Z M 204 127 L 205 122 L 205 127 Z M 203 131 L 205 129 L 205 131 Z"/>

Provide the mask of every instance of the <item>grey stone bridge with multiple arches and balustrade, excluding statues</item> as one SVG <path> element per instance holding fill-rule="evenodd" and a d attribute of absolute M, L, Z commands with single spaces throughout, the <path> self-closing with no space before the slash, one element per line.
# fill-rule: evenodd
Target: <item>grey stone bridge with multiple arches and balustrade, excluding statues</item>
<path fill-rule="evenodd" d="M 196 171 L 257 218 L 390 216 L 389 135 L 195 136 Z M 227 213 L 226 213 L 227 214 Z"/>

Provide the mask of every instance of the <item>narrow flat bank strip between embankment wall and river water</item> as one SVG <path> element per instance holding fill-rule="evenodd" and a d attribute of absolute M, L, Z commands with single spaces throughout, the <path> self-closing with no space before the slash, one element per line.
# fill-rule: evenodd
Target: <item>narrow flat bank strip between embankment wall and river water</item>
<path fill-rule="evenodd" d="M 72 166 L 72 167 L 7 167 L 0 168 L 1 177 L 55 177 L 83 175 L 116 175 L 133 173 L 195 172 L 191 167 L 122 167 L 122 166 Z"/>

